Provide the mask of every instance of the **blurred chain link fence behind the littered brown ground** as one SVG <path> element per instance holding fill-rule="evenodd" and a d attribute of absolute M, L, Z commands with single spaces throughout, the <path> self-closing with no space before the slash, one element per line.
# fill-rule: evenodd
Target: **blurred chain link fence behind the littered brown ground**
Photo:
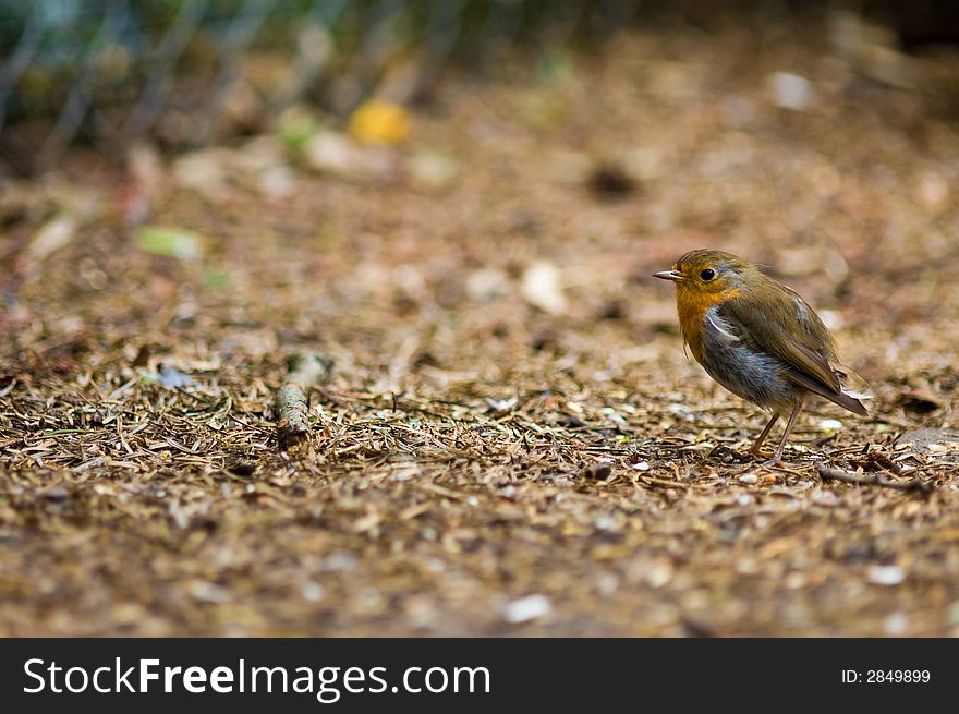
<path fill-rule="evenodd" d="M 646 3 L 647 5 L 650 3 Z M 202 145 L 309 101 L 415 99 L 439 68 L 630 22 L 640 0 L 0 0 L 0 161 Z"/>

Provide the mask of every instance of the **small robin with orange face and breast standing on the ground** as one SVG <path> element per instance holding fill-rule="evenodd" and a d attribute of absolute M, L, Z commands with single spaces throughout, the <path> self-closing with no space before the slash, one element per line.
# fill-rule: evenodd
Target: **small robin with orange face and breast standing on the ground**
<path fill-rule="evenodd" d="M 772 460 L 782 459 L 796 420 L 811 395 L 860 416 L 872 395 L 836 355 L 836 340 L 802 297 L 758 266 L 732 253 L 699 249 L 653 277 L 676 285 L 683 349 L 723 387 L 772 413 L 750 452 L 761 448 L 776 422 L 786 428 Z"/>

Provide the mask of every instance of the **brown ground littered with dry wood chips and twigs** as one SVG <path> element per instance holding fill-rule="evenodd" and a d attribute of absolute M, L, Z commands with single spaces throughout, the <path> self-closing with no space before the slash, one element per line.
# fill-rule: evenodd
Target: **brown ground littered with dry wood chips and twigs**
<path fill-rule="evenodd" d="M 959 56 L 846 21 L 450 72 L 394 146 L 8 181 L 0 633 L 959 634 Z M 650 275 L 697 246 L 821 311 L 871 416 L 751 461 Z"/>

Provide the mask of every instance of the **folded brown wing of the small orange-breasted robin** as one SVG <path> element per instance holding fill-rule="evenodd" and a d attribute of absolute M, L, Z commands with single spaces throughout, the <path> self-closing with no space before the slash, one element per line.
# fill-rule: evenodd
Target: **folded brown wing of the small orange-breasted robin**
<path fill-rule="evenodd" d="M 755 293 L 743 291 L 721 303 L 718 313 L 749 347 L 779 358 L 786 367 L 784 377 L 851 412 L 867 413 L 858 399 L 842 392 L 839 375 L 830 366 L 836 359 L 833 338 L 798 293 L 788 288 L 764 290 L 760 301 Z"/>

